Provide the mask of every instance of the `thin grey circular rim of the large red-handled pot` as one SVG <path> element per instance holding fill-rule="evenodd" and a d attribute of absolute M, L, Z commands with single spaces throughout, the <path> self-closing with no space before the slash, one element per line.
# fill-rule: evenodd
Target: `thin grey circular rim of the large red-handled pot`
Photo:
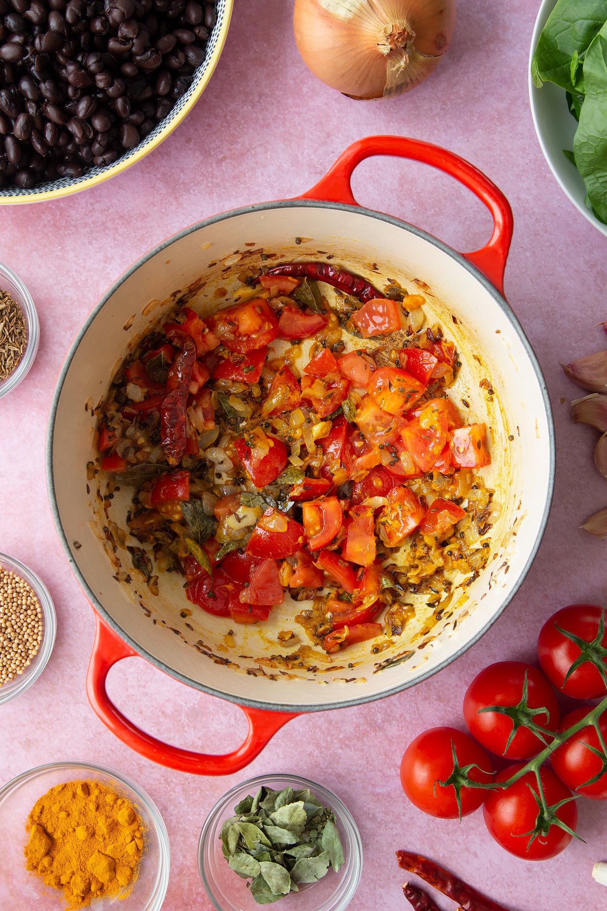
<path fill-rule="evenodd" d="M 491 615 L 490 618 L 487 619 L 487 622 L 482 626 L 481 630 L 479 630 L 473 637 L 471 637 L 469 640 L 467 640 L 466 643 L 464 645 L 462 645 L 458 650 L 454 651 L 450 656 L 448 656 L 444 660 L 440 661 L 440 663 L 437 664 L 436 667 L 430 668 L 429 670 L 422 671 L 422 673 L 420 673 L 420 675 L 417 676 L 414 680 L 399 681 L 398 683 L 394 684 L 393 686 L 389 686 L 386 689 L 381 690 L 379 692 L 370 693 L 369 695 L 349 698 L 347 700 L 346 699 L 342 699 L 339 701 L 331 700 L 331 701 L 319 702 L 319 703 L 307 703 L 307 702 L 302 701 L 302 702 L 291 704 L 291 703 L 278 702 L 278 701 L 254 700 L 254 699 L 250 699 L 248 696 L 244 696 L 244 695 L 237 696 L 232 693 L 228 693 L 226 691 L 216 689 L 215 687 L 211 687 L 207 683 L 200 683 L 199 681 L 195 681 L 192 678 L 187 677 L 187 675 L 182 673 L 180 670 L 175 670 L 174 668 L 170 667 L 165 661 L 157 659 L 155 656 L 151 655 L 149 652 L 147 652 L 147 650 L 145 650 L 137 642 L 137 640 L 134 640 L 131 636 L 129 636 L 128 633 L 126 633 L 126 631 L 123 630 L 122 627 L 118 623 L 116 623 L 116 620 L 109 615 L 109 613 L 106 611 L 106 609 L 103 606 L 103 604 L 101 603 L 101 601 L 99 601 L 99 599 L 97 599 L 95 592 L 93 591 L 93 589 L 91 589 L 89 587 L 88 583 L 86 582 L 86 578 L 81 573 L 80 568 L 78 567 L 78 565 L 76 563 L 76 559 L 74 558 L 74 556 L 72 554 L 72 551 L 71 551 L 71 548 L 69 545 L 69 541 L 67 540 L 67 537 L 66 537 L 66 532 L 61 523 L 61 517 L 59 515 L 59 508 L 58 508 L 57 500 L 56 500 L 55 481 L 54 481 L 54 474 L 53 474 L 53 441 L 54 441 L 54 437 L 55 437 L 56 412 L 57 412 L 57 407 L 59 404 L 59 399 L 61 397 L 64 383 L 66 382 L 66 375 L 69 371 L 72 360 L 76 354 L 76 350 L 77 350 L 80 342 L 82 341 L 84 335 L 88 331 L 90 325 L 92 324 L 92 322 L 95 321 L 97 314 L 102 310 L 102 308 L 106 305 L 106 302 L 108 302 L 108 300 L 113 296 L 113 294 L 117 291 L 117 289 L 120 287 L 121 284 L 123 284 L 128 278 L 130 278 L 130 276 L 133 275 L 148 260 L 150 260 L 152 257 L 156 256 L 157 253 L 160 253 L 160 252 L 166 250 L 167 247 L 169 247 L 171 244 L 182 240 L 184 237 L 187 237 L 187 235 L 192 233 L 193 231 L 200 230 L 202 228 L 207 228 L 211 225 L 218 224 L 221 221 L 228 220 L 233 217 L 238 217 L 239 215 L 248 215 L 248 214 L 253 214 L 253 213 L 259 214 L 259 213 L 268 212 L 271 210 L 298 209 L 298 208 L 309 208 L 309 209 L 317 208 L 317 209 L 339 210 L 339 211 L 343 211 L 343 212 L 349 212 L 350 214 L 354 214 L 354 215 L 362 215 L 362 216 L 370 217 L 373 219 L 386 221 L 389 224 L 393 225 L 394 227 L 400 228 L 401 230 L 408 231 L 412 234 L 415 234 L 417 237 L 420 237 L 422 240 L 428 241 L 432 246 L 436 247 L 438 250 L 446 253 L 452 259 L 457 261 L 460 264 L 460 266 L 462 266 L 463 269 L 465 269 L 466 271 L 469 271 L 470 274 L 477 281 L 479 281 L 481 283 L 482 287 L 491 294 L 491 297 L 494 299 L 494 301 L 497 303 L 497 305 L 500 307 L 500 309 L 504 312 L 505 316 L 511 323 L 512 329 L 519 336 L 519 339 L 525 350 L 525 353 L 529 357 L 531 367 L 533 369 L 533 372 L 536 376 L 537 383 L 540 388 L 541 397 L 543 400 L 544 410 L 545 410 L 545 414 L 546 414 L 546 423 L 547 423 L 547 428 L 548 428 L 549 458 L 548 458 L 548 466 L 547 466 L 548 467 L 548 489 L 546 492 L 546 501 L 544 503 L 543 511 L 541 514 L 537 537 L 533 543 L 533 547 L 530 550 L 529 556 L 528 556 L 524 566 L 521 568 L 521 573 L 519 575 L 519 578 L 517 578 L 516 582 L 512 586 L 511 591 L 508 593 L 506 598 L 502 601 L 500 608 L 498 610 L 496 610 Z M 239 209 L 228 210 L 227 212 L 221 212 L 218 215 L 213 215 L 207 219 L 197 221 L 194 224 L 189 225 L 187 228 L 177 231 L 177 233 L 172 234 L 170 237 L 168 237 L 164 241 L 161 241 L 160 243 L 158 243 L 151 250 L 144 253 L 143 256 L 139 257 L 139 259 L 137 261 L 135 261 L 126 271 L 124 271 L 122 273 L 122 275 L 120 275 L 116 279 L 116 281 L 114 281 L 110 285 L 110 287 L 107 289 L 106 293 L 99 300 L 99 302 L 96 303 L 96 306 L 89 313 L 85 322 L 83 323 L 80 330 L 76 334 L 76 338 L 74 339 L 73 343 L 70 345 L 70 348 L 66 354 L 66 360 L 63 363 L 63 366 L 62 366 L 59 376 L 57 378 L 55 392 L 53 394 L 53 398 L 52 398 L 52 402 L 51 402 L 51 406 L 50 406 L 50 413 L 49 413 L 49 417 L 48 417 L 48 425 L 47 425 L 47 432 L 46 432 L 46 487 L 47 487 L 47 492 L 48 492 L 49 506 L 50 506 L 51 514 L 52 514 L 54 522 L 55 522 L 56 532 L 57 532 L 57 535 L 61 542 L 61 545 L 64 548 L 64 551 L 66 553 L 67 561 L 69 562 L 73 572 L 75 573 L 81 589 L 84 591 L 86 598 L 88 599 L 88 601 L 91 604 L 91 606 L 93 607 L 93 609 L 96 610 L 99 617 L 103 620 L 104 623 L 107 624 L 107 626 L 111 630 L 114 630 L 116 632 L 116 635 L 121 640 L 126 642 L 134 651 L 136 651 L 137 655 L 141 656 L 142 658 L 145 658 L 147 661 L 149 661 L 151 664 L 153 664 L 159 670 L 164 670 L 165 673 L 167 673 L 174 680 L 177 680 L 180 683 L 185 683 L 187 686 L 193 687 L 194 689 L 199 690 L 201 692 L 205 692 L 209 696 L 217 696 L 219 699 L 228 700 L 239 706 L 247 706 L 248 708 L 251 708 L 251 709 L 265 709 L 268 711 L 285 711 L 285 712 L 328 711 L 331 709 L 345 709 L 345 708 L 350 708 L 355 705 L 363 705 L 366 702 L 372 702 L 372 701 L 376 701 L 379 699 L 384 699 L 387 696 L 393 696 L 396 693 L 399 693 L 403 690 L 408 690 L 411 686 L 416 686 L 418 683 L 428 680 L 430 677 L 434 676 L 434 674 L 439 673 L 440 670 L 443 670 L 444 668 L 448 667 L 453 661 L 460 658 L 460 656 L 463 655 L 464 652 L 469 650 L 476 642 L 478 642 L 482 638 L 482 636 L 484 636 L 485 633 L 491 629 L 491 626 L 493 626 L 493 624 L 501 617 L 501 614 L 503 613 L 503 611 L 508 607 L 511 600 L 514 598 L 514 596 L 516 595 L 518 590 L 521 588 L 521 585 L 531 568 L 533 560 L 535 559 L 538 549 L 540 548 L 541 540 L 542 540 L 544 531 L 546 529 L 548 517 L 550 515 L 552 496 L 554 493 L 555 464 L 556 464 L 556 444 L 555 444 L 555 437 L 554 437 L 554 421 L 553 421 L 553 417 L 552 417 L 550 394 L 548 392 L 548 386 L 546 384 L 546 380 L 544 378 L 544 375 L 542 374 L 541 366 L 538 361 L 538 358 L 537 358 L 535 352 L 533 351 L 533 348 L 531 347 L 531 343 L 530 343 L 529 339 L 527 338 L 527 336 L 525 335 L 524 330 L 522 329 L 521 322 L 519 322 L 519 319 L 517 318 L 514 311 L 511 309 L 510 304 L 507 302 L 506 298 L 503 297 L 501 295 L 501 293 L 497 290 L 495 285 L 493 285 L 491 283 L 491 281 L 486 277 L 486 275 L 484 275 L 483 272 L 481 272 L 480 269 L 478 269 L 469 260 L 467 260 L 462 253 L 459 253 L 458 251 L 453 250 L 453 248 L 450 247 L 448 244 L 444 243 L 443 241 L 440 241 L 438 238 L 433 237 L 427 231 L 421 230 L 420 228 L 415 227 L 415 225 L 411 225 L 408 221 L 398 219 L 392 215 L 387 215 L 384 212 L 378 212 L 376 210 L 366 209 L 363 206 L 358 206 L 358 205 L 353 206 L 353 205 L 349 205 L 348 203 L 329 202 L 329 201 L 324 201 L 324 200 L 302 200 L 302 199 L 276 200 L 273 202 L 255 203 L 253 205 L 244 206 Z"/>

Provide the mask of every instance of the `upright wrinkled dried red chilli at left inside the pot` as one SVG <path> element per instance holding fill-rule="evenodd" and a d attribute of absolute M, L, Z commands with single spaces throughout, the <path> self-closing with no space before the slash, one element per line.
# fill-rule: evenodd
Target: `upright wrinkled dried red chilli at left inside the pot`
<path fill-rule="evenodd" d="M 196 345 L 186 333 L 174 333 L 172 340 L 181 343 L 181 351 L 168 371 L 167 394 L 160 407 L 160 441 L 168 464 L 178 465 L 186 451 L 187 394 L 196 363 Z"/>

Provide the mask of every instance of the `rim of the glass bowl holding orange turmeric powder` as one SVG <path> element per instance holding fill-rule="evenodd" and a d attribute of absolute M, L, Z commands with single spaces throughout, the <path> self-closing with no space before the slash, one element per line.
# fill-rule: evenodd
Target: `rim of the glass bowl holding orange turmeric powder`
<path fill-rule="evenodd" d="M 59 772 L 62 769 L 65 769 L 66 771 L 69 769 L 77 769 L 82 770 L 83 772 L 102 773 L 110 778 L 115 778 L 118 783 L 123 784 L 126 788 L 135 793 L 137 799 L 145 805 L 148 814 L 154 822 L 154 831 L 157 835 L 160 854 L 155 895 L 152 896 L 152 903 L 147 907 L 146 911 L 160 911 L 164 904 L 165 897 L 167 896 L 170 870 L 170 843 L 168 840 L 167 826 L 152 798 L 139 784 L 137 784 L 137 782 L 134 782 L 132 778 L 129 778 L 121 772 L 116 772 L 116 769 L 99 763 L 85 763 L 78 760 L 45 763 L 44 765 L 36 765 L 33 769 L 28 769 L 25 772 L 15 775 L 14 778 L 0 787 L 0 805 L 7 794 L 20 787 L 21 784 L 33 780 L 40 774 L 46 772 Z"/>

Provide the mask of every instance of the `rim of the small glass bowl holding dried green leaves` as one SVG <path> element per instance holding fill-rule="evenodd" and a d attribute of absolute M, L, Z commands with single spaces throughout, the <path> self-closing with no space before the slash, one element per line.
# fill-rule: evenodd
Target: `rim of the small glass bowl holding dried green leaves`
<path fill-rule="evenodd" d="M 207 875 L 205 874 L 205 868 L 203 865 L 203 853 L 211 834 L 211 827 L 216 823 L 215 817 L 224 810 L 227 804 L 233 802 L 234 798 L 239 792 L 249 790 L 254 790 L 254 792 L 256 792 L 262 784 L 275 782 L 277 780 L 285 782 L 285 786 L 290 785 L 293 787 L 295 784 L 297 784 L 303 788 L 308 787 L 309 790 L 314 791 L 314 793 L 321 791 L 327 794 L 328 799 L 330 800 L 333 808 L 336 810 L 336 813 L 339 816 L 339 819 L 343 821 L 344 828 L 348 830 L 350 842 L 352 844 L 352 878 L 349 884 L 346 885 L 343 895 L 339 897 L 339 905 L 334 909 L 334 911 L 344 911 L 344 909 L 349 905 L 350 901 L 354 897 L 354 894 L 359 887 L 360 877 L 362 875 L 364 852 L 362 847 L 362 838 L 360 837 L 359 832 L 359 826 L 357 825 L 354 816 L 350 813 L 346 804 L 344 804 L 341 798 L 339 798 L 338 795 L 334 791 L 331 791 L 325 784 L 310 781 L 309 778 L 304 778 L 302 775 L 295 775 L 293 773 L 285 772 L 255 775 L 253 778 L 248 778 L 244 782 L 235 784 L 229 789 L 229 791 L 224 793 L 208 811 L 207 818 L 202 825 L 202 829 L 200 830 L 200 835 L 198 837 L 197 863 L 198 874 L 200 875 L 200 880 L 202 882 L 202 885 L 205 887 L 205 891 L 207 892 L 209 900 L 216 907 L 217 911 L 224 911 L 224 908 L 217 904 L 215 896 L 213 896 L 209 891 Z"/>

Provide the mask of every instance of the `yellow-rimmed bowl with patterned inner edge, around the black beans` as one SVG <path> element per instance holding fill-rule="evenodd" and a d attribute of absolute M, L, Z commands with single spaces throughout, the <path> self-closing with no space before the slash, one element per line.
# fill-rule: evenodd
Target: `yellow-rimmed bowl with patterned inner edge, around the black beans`
<path fill-rule="evenodd" d="M 192 81 L 180 98 L 177 98 L 174 106 L 171 107 L 167 117 L 162 119 L 157 126 L 148 133 L 147 137 L 141 142 L 130 148 L 121 155 L 120 158 L 106 165 L 105 168 L 89 168 L 81 177 L 77 178 L 60 178 L 47 181 L 32 187 L 32 189 L 21 189 L 19 187 L 0 187 L 0 205 L 17 205 L 24 202 L 44 202 L 45 200 L 58 200 L 62 196 L 70 196 L 72 193 L 78 193 L 82 189 L 96 187 L 110 177 L 115 177 L 121 171 L 130 168 L 151 152 L 154 148 L 167 138 L 167 136 L 178 127 L 181 121 L 187 117 L 198 98 L 202 95 L 207 87 L 208 80 L 213 75 L 215 67 L 218 65 L 219 57 L 226 43 L 228 28 L 232 15 L 234 0 L 217 0 L 216 11 L 217 21 L 207 42 L 207 56 L 203 63 L 194 71 Z"/>

